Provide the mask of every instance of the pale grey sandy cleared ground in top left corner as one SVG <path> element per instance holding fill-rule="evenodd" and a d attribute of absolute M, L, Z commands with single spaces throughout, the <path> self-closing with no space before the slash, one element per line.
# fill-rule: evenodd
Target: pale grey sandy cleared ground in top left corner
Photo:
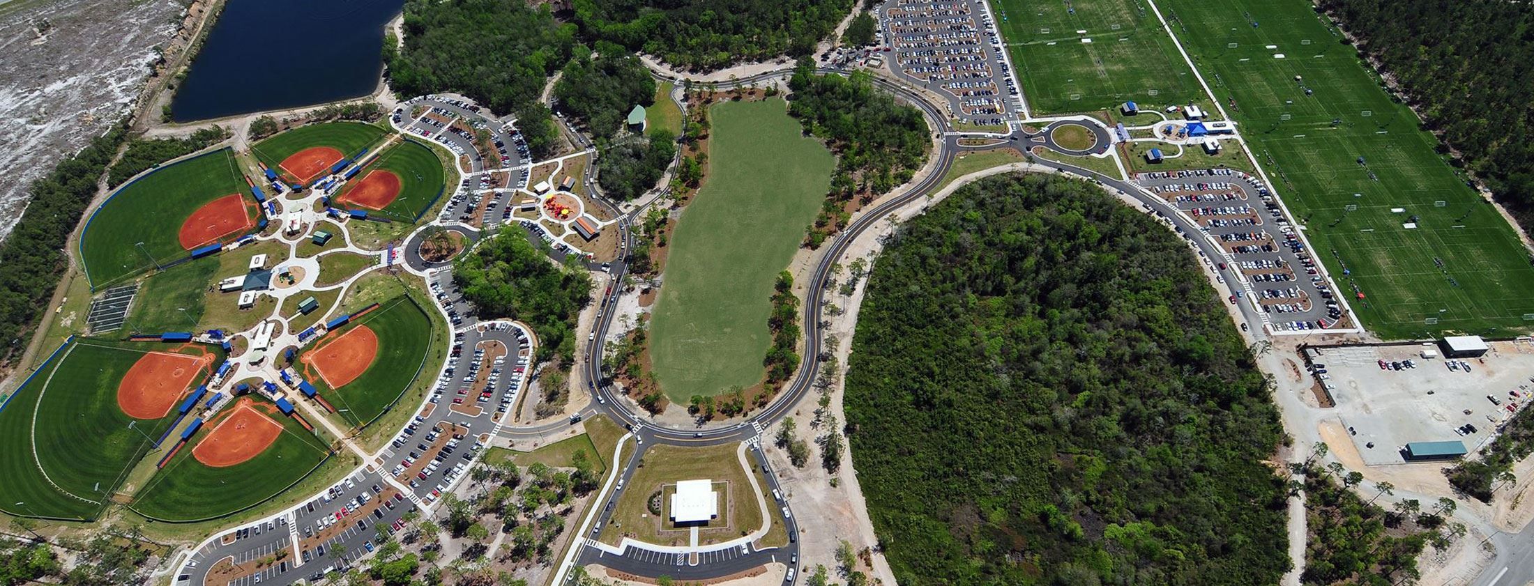
<path fill-rule="evenodd" d="M 181 12 L 173 0 L 0 8 L 0 238 L 20 218 L 32 179 L 127 114 L 153 46 L 170 41 Z"/>

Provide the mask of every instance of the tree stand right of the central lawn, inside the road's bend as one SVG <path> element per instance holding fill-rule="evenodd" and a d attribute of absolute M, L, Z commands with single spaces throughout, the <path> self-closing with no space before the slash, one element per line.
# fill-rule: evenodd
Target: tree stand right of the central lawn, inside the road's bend
<path fill-rule="evenodd" d="M 788 115 L 836 153 L 831 193 L 808 236 L 813 247 L 847 224 L 850 201 L 867 202 L 910 181 L 927 160 L 931 140 L 922 110 L 876 89 L 867 72 L 818 75 L 810 61 L 801 61 L 788 87 Z"/>

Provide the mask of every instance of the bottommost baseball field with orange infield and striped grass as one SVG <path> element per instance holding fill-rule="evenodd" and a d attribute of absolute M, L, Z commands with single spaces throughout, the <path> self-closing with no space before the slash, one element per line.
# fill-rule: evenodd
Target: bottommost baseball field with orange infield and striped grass
<path fill-rule="evenodd" d="M 328 442 L 296 419 L 264 399 L 242 399 L 155 472 L 132 509 L 164 522 L 222 517 L 278 495 L 328 456 Z"/>

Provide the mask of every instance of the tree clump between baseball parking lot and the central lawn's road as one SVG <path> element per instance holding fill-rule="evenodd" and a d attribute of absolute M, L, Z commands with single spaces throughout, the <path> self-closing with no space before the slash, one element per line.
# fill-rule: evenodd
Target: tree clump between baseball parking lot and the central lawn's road
<path fill-rule="evenodd" d="M 540 360 L 558 356 L 568 367 L 575 359 L 575 314 L 592 287 L 583 267 L 555 265 L 526 233 L 506 230 L 459 258 L 453 281 L 480 316 L 531 325 Z"/>

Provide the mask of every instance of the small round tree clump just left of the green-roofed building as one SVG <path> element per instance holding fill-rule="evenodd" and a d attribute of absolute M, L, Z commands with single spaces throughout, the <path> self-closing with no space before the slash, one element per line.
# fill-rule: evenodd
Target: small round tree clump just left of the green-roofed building
<path fill-rule="evenodd" d="M 621 46 L 597 43 L 595 55 L 575 57 L 565 64 L 554 84 L 554 98 L 560 112 L 606 138 L 623 129 L 635 104 L 655 101 L 655 78 Z"/>

